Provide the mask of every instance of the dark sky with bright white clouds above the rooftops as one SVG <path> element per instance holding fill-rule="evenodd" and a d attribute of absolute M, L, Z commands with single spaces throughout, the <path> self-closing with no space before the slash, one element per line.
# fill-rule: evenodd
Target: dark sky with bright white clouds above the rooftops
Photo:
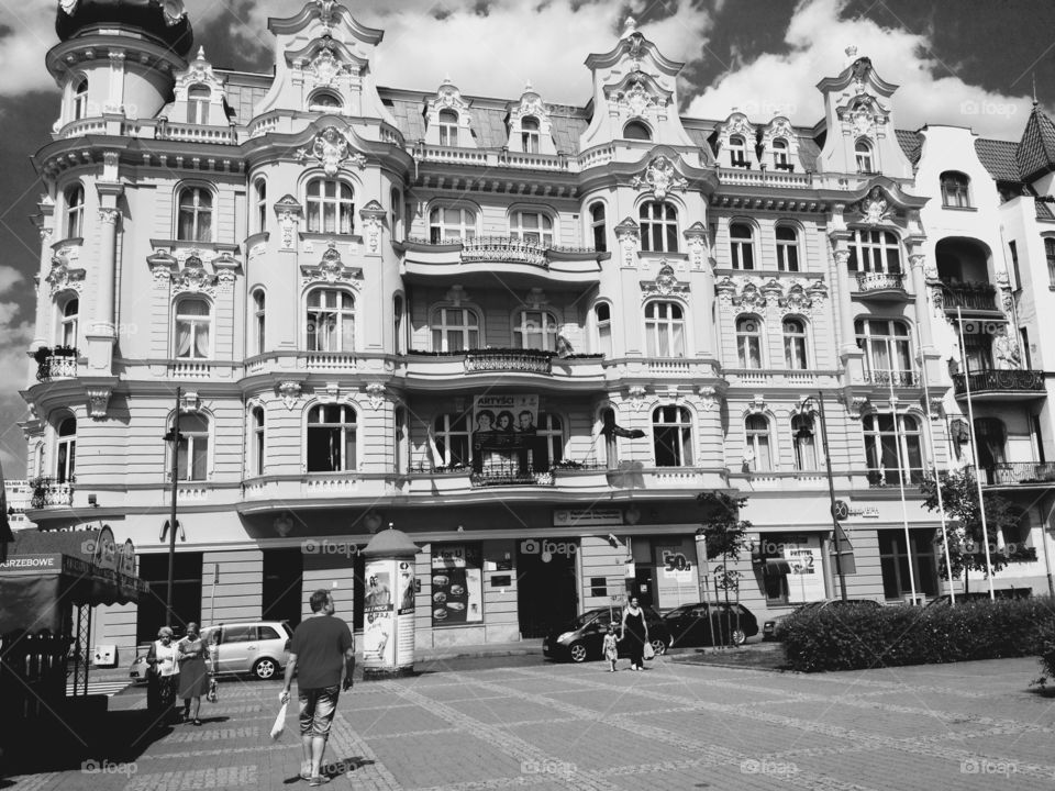
<path fill-rule="evenodd" d="M 216 67 L 269 71 L 268 16 L 299 0 L 186 0 L 197 45 Z M 628 16 L 668 58 L 685 64 L 684 114 L 813 125 L 817 82 L 839 74 L 845 48 L 900 85 L 899 129 L 969 126 L 1018 140 L 1035 91 L 1055 108 L 1055 3 L 1050 0 L 385 0 L 345 2 L 385 31 L 371 68 L 378 83 L 517 99 L 526 82 L 551 103 L 590 98 L 584 60 L 611 49 Z M 19 390 L 33 337 L 40 237 L 29 215 L 44 191 L 33 153 L 48 141 L 58 89 L 44 57 L 57 44 L 57 0 L 0 0 L 0 463 L 25 474 Z M 1035 86 L 1035 87 L 1034 87 Z M 144 253 L 145 254 L 145 253 Z"/>

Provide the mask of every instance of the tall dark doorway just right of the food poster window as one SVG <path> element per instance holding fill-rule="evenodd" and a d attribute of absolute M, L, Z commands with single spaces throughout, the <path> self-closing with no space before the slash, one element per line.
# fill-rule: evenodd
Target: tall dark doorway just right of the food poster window
<path fill-rule="evenodd" d="M 517 600 L 522 637 L 545 637 L 578 614 L 578 543 L 570 539 L 518 542 Z"/>

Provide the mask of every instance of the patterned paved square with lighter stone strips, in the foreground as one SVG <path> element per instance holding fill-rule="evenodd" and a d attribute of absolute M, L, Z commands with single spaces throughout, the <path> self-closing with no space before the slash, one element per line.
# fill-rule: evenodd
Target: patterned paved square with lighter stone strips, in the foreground
<path fill-rule="evenodd" d="M 327 748 L 330 789 L 1055 789 L 1055 699 L 1033 659 L 803 676 L 657 659 L 424 672 L 358 682 Z M 178 725 L 18 791 L 307 788 L 277 682 L 227 682 Z M 142 705 L 142 690 L 111 710 Z M 129 756 L 125 756 L 127 758 Z"/>

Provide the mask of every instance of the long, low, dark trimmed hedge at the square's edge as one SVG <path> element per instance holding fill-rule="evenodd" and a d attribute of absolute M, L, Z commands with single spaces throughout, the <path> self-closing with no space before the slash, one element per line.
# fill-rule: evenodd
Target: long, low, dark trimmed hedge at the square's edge
<path fill-rule="evenodd" d="M 1055 665 L 1055 602 L 830 606 L 792 614 L 780 634 L 788 665 L 803 672 L 1037 656 L 1042 634 L 1050 635 L 1047 656 Z"/>

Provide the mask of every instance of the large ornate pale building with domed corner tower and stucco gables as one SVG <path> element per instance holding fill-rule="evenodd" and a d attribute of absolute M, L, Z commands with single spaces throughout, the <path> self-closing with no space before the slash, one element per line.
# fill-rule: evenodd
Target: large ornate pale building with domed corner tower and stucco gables
<path fill-rule="evenodd" d="M 632 25 L 569 108 L 379 87 L 382 32 L 332 2 L 271 19 L 258 75 L 185 59 L 179 3 L 119 5 L 58 12 L 25 391 L 30 515 L 109 523 L 158 593 L 96 643 L 164 621 L 177 386 L 182 620 L 296 621 L 325 586 L 359 625 L 355 548 L 389 524 L 421 547 L 419 645 L 537 637 L 628 586 L 667 609 L 699 597 L 713 490 L 749 497 L 748 606 L 831 595 L 819 393 L 849 593 L 940 591 L 933 190 L 867 58 L 801 129 L 680 118 L 681 65 Z"/>

